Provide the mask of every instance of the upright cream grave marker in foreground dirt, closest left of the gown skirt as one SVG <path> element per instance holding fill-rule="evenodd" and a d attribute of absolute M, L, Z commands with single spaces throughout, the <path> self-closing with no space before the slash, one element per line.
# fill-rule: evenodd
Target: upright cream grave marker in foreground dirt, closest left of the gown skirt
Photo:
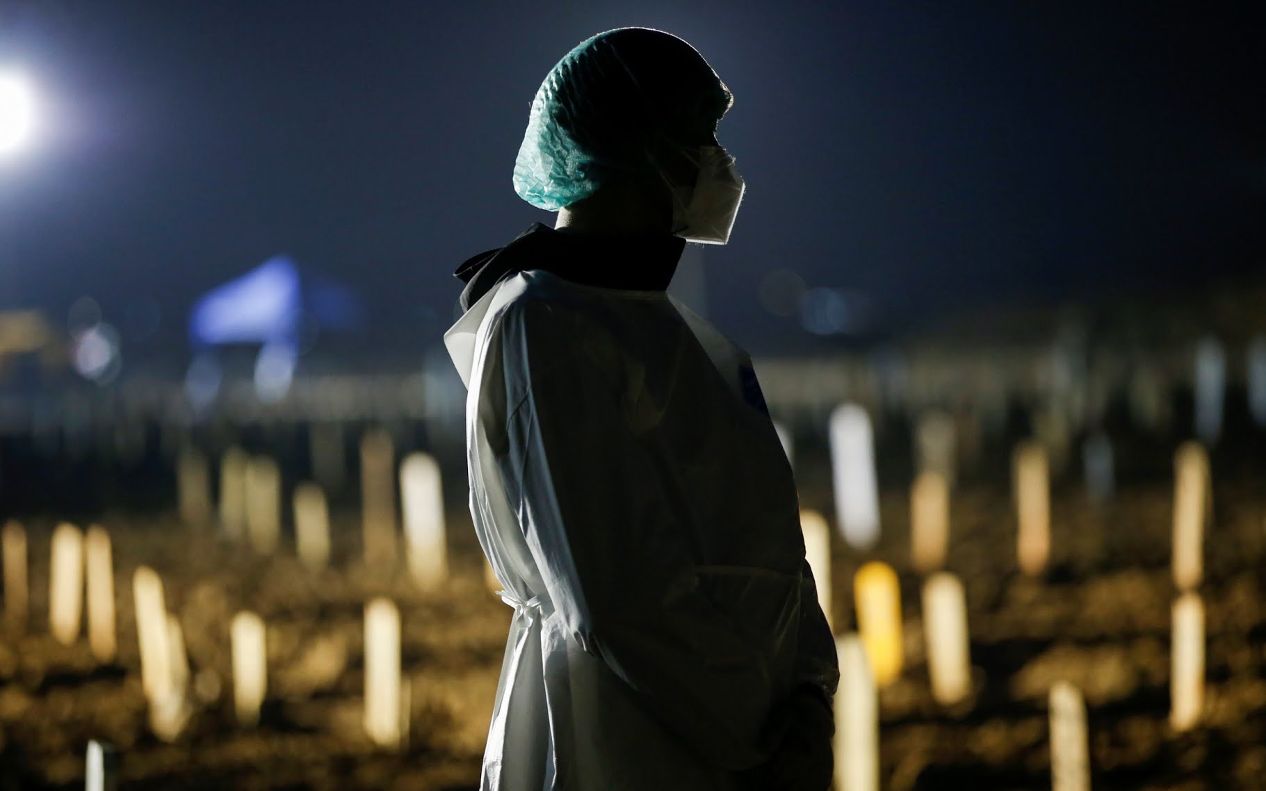
<path fill-rule="evenodd" d="M 400 747 L 400 611 L 381 597 L 365 607 L 365 732 Z"/>

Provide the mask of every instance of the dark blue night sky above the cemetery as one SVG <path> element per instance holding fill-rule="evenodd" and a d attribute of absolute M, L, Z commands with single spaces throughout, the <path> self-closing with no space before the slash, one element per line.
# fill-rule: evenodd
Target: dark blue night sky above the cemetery
<path fill-rule="evenodd" d="M 762 309 L 777 268 L 866 295 L 880 330 L 1246 270 L 1266 25 L 1213 9 L 0 0 L 0 62 L 49 105 L 0 162 L 4 301 L 61 321 L 91 295 L 125 354 L 179 357 L 200 292 L 287 252 L 361 291 L 354 343 L 420 358 L 453 267 L 552 221 L 510 187 L 542 77 L 627 24 L 686 38 L 736 95 L 719 137 L 748 194 L 704 267 L 756 353 L 820 348 Z"/>

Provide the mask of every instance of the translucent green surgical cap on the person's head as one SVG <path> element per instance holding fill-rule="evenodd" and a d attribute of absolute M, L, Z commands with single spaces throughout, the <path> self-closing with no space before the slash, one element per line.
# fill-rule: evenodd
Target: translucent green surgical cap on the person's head
<path fill-rule="evenodd" d="M 665 146 L 710 142 L 733 96 L 682 39 L 618 28 L 558 61 L 532 100 L 514 163 L 514 191 L 557 211 L 613 175 L 652 172 Z"/>

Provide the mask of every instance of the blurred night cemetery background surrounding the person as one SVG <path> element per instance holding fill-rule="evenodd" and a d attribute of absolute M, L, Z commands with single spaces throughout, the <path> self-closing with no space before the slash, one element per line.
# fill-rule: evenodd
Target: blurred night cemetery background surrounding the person
<path fill-rule="evenodd" d="M 1058 682 L 1095 786 L 1266 787 L 1263 14 L 0 0 L 0 788 L 80 787 L 91 740 L 124 788 L 477 786 L 510 609 L 466 513 L 452 271 L 553 221 L 510 186 L 528 104 L 629 24 L 736 96 L 747 195 L 671 291 L 752 353 L 871 663 L 855 572 L 896 573 L 880 787 L 1047 786 Z M 919 556 L 928 475 L 950 538 Z M 950 702 L 934 572 L 970 624 Z M 377 599 L 409 683 L 371 716 Z"/>

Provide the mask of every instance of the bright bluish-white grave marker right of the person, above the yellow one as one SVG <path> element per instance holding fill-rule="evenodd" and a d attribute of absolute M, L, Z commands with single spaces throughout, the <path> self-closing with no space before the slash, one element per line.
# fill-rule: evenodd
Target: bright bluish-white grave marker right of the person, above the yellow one
<path fill-rule="evenodd" d="M 830 466 L 836 515 L 844 540 L 868 549 L 879 539 L 879 485 L 870 415 L 856 404 L 830 414 Z"/>

